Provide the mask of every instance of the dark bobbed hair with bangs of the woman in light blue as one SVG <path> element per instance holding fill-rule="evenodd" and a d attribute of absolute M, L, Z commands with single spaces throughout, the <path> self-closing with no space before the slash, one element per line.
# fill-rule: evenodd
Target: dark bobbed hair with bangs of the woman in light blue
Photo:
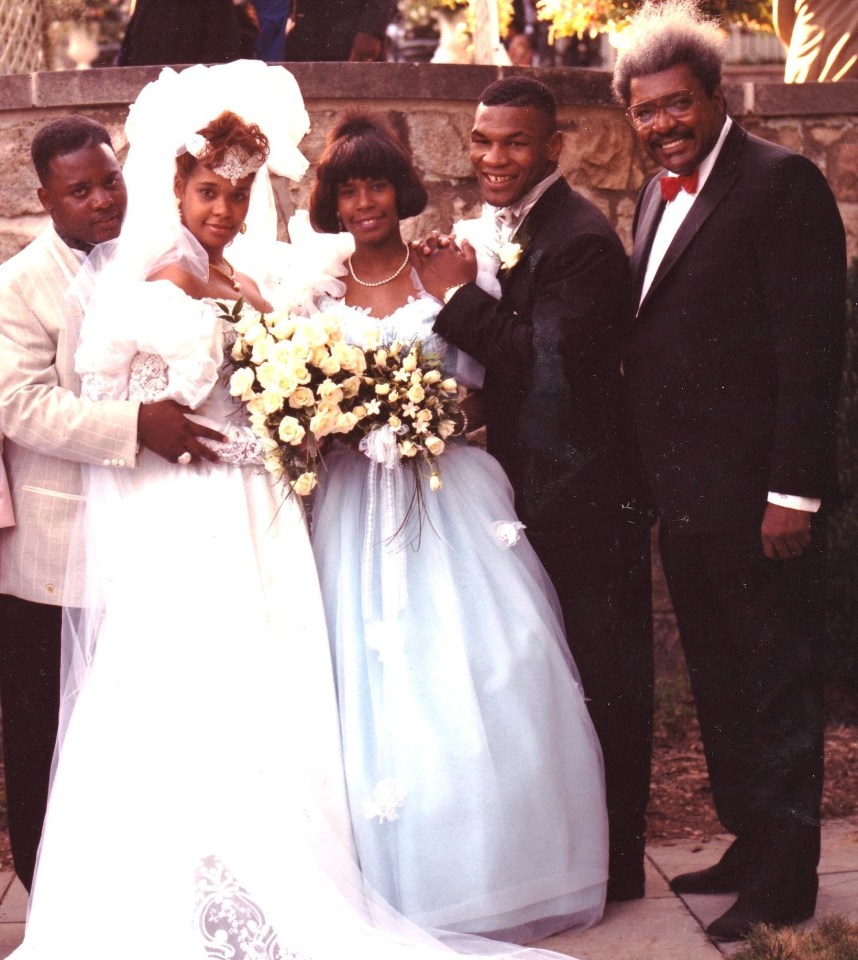
<path fill-rule="evenodd" d="M 429 200 L 406 148 L 378 114 L 349 112 L 328 131 L 325 152 L 310 195 L 310 223 L 321 233 L 338 233 L 337 187 L 349 180 L 389 180 L 396 190 L 400 220 L 421 213 Z"/>

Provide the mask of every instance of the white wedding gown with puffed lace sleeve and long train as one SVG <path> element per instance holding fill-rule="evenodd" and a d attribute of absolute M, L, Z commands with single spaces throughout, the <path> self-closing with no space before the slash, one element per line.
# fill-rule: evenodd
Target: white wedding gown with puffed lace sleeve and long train
<path fill-rule="evenodd" d="M 88 318 L 91 396 L 172 396 L 231 464 L 88 471 L 89 610 L 67 646 L 48 813 L 16 960 L 535 958 L 450 946 L 364 889 L 303 511 L 219 378 L 229 326 L 166 281 Z M 228 342 L 228 340 L 227 340 Z M 70 631 L 64 640 L 68 640 Z"/>

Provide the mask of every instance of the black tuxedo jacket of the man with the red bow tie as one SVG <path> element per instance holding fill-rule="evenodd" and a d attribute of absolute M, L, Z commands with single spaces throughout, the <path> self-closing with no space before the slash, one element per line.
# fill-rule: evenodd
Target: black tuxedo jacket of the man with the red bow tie
<path fill-rule="evenodd" d="M 635 303 L 663 208 L 655 178 L 635 217 Z M 845 270 L 820 171 L 734 123 L 624 345 L 644 466 L 671 525 L 758 529 L 770 490 L 830 501 Z"/>

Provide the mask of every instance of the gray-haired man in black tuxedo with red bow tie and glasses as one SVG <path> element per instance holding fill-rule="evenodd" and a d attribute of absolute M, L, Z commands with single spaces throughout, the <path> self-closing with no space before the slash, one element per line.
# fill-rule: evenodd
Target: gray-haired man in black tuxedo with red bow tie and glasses
<path fill-rule="evenodd" d="M 664 168 L 635 219 L 624 370 L 715 806 L 736 836 L 672 886 L 737 893 L 708 928 L 734 940 L 816 902 L 844 233 L 820 171 L 727 116 L 721 34 L 693 3 L 648 3 L 624 36 L 615 93 Z"/>

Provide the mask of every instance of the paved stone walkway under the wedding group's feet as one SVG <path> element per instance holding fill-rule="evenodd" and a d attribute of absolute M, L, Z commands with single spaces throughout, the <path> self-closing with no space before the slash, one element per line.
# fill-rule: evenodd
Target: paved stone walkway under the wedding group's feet
<path fill-rule="evenodd" d="M 604 920 L 584 933 L 544 940 L 579 960 L 721 960 L 740 944 L 716 946 L 703 927 L 731 903 L 729 896 L 680 898 L 667 878 L 709 866 L 727 847 L 727 839 L 680 840 L 647 848 L 647 896 L 631 903 L 609 904 Z M 817 918 L 843 914 L 858 922 L 858 820 L 833 820 L 822 832 L 822 860 Z M 0 960 L 21 942 L 27 894 L 12 873 L 0 873 Z M 97 911 L 93 923 L 98 923 Z M 77 960 L 77 958 L 74 958 Z"/>

